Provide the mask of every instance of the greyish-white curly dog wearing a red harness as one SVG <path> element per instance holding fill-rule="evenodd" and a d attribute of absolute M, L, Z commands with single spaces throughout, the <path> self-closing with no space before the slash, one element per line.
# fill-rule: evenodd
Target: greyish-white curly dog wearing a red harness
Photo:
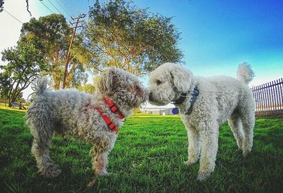
<path fill-rule="evenodd" d="M 33 135 L 32 153 L 40 173 L 54 178 L 61 170 L 50 158 L 54 132 L 70 135 L 93 144 L 93 170 L 107 175 L 108 154 L 117 138 L 117 127 L 124 118 L 148 98 L 137 77 L 117 68 L 106 70 L 98 80 L 98 94 L 73 90 L 52 92 L 47 80 L 39 79 L 35 97 L 26 113 L 26 123 Z"/>

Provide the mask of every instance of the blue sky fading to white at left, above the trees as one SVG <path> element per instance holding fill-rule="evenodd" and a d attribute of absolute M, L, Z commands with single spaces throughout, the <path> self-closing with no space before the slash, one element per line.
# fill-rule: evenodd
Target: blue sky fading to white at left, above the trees
<path fill-rule="evenodd" d="M 23 6 L 19 5 L 20 1 L 23 1 Z M 57 1 L 62 2 L 75 16 L 86 13 L 88 2 L 93 3 L 93 0 L 50 1 L 64 12 L 57 4 Z M 24 0 L 13 2 L 6 1 L 4 8 L 18 18 L 22 17 L 23 22 L 28 21 Z M 58 12 L 48 0 L 42 2 Z M 195 75 L 235 77 L 238 64 L 247 61 L 256 75 L 250 84 L 252 86 L 283 77 L 283 1 L 134 0 L 134 4 L 173 17 L 172 23 L 181 32 L 179 46 L 185 56 L 185 67 Z M 23 10 L 16 11 L 21 6 Z M 30 6 L 36 18 L 50 14 L 39 0 L 30 0 Z M 0 14 L 1 26 L 4 22 L 2 15 L 5 14 Z M 70 20 L 67 13 L 64 15 Z M 17 23 L 11 16 L 6 17 L 11 20 L 10 23 Z M 21 23 L 18 25 L 21 28 Z M 2 31 L 7 32 L 11 33 L 11 30 Z M 2 35 L 0 38 L 0 42 L 6 41 L 6 47 L 7 40 Z M 16 36 L 12 38 L 10 46 L 18 39 Z"/>

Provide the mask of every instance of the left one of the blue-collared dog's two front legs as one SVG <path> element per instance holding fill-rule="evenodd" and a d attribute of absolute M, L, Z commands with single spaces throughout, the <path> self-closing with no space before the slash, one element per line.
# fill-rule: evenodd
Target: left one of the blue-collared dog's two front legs
<path fill-rule="evenodd" d="M 195 130 L 195 128 L 185 126 L 187 128 L 187 139 L 188 139 L 188 149 L 187 149 L 187 161 L 185 164 L 190 165 L 196 163 L 200 156 L 200 135 Z"/>

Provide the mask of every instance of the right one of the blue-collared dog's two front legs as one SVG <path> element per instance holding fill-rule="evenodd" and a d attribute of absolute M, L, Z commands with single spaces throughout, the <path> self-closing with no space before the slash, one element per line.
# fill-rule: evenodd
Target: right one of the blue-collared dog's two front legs
<path fill-rule="evenodd" d="M 197 180 L 204 180 L 214 171 L 216 153 L 218 149 L 218 123 L 204 123 L 207 127 L 200 131 L 200 139 L 202 140 L 202 150 L 200 155 L 200 170 Z"/>

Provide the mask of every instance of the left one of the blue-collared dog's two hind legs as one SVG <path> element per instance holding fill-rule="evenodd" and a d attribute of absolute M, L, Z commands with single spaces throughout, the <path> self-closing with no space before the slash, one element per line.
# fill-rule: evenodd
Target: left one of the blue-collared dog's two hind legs
<path fill-rule="evenodd" d="M 233 113 L 228 119 L 228 124 L 236 139 L 238 149 L 242 149 L 243 127 L 242 127 L 240 115 L 238 113 Z"/>

